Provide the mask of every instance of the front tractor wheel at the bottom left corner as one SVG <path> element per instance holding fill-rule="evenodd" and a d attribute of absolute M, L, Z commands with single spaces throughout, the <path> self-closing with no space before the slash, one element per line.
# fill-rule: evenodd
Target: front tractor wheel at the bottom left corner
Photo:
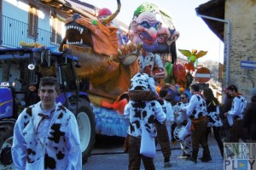
<path fill-rule="evenodd" d="M 13 144 L 14 124 L 3 123 L 0 125 L 0 169 L 15 169 L 11 155 Z"/>

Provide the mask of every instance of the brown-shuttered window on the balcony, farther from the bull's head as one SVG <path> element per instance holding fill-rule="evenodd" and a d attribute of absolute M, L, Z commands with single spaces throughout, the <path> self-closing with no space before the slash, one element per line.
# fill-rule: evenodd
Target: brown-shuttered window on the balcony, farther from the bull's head
<path fill-rule="evenodd" d="M 32 5 L 28 13 L 28 37 L 38 38 L 38 8 Z"/>

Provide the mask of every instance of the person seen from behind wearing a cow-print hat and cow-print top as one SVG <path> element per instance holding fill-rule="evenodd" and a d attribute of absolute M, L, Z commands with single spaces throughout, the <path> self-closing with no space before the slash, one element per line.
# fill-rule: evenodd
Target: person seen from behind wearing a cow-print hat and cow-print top
<path fill-rule="evenodd" d="M 155 169 L 154 160 L 151 157 L 140 155 L 142 126 L 146 127 L 151 137 L 155 138 L 156 128 L 154 122 L 162 123 L 166 120 L 166 114 L 160 103 L 156 100 L 152 77 L 146 73 L 137 73 L 131 78 L 129 88 L 129 102 L 125 105 L 124 115 L 129 117 L 129 169 L 140 169 L 141 159 L 145 169 Z M 154 80 L 154 79 L 153 79 Z"/>

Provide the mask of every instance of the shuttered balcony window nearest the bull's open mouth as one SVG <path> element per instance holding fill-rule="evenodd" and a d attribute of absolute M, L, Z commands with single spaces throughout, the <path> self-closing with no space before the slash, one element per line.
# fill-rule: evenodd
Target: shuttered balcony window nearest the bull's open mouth
<path fill-rule="evenodd" d="M 61 43 L 61 21 L 51 16 L 51 42 L 55 44 Z"/>

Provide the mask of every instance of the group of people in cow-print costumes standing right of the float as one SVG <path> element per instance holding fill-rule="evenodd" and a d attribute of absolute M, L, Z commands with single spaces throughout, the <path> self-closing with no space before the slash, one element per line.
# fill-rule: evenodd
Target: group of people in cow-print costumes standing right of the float
<path fill-rule="evenodd" d="M 164 157 L 163 167 L 172 166 L 170 144 L 174 144 L 174 141 L 181 144 L 181 156 L 195 163 L 198 160 L 207 162 L 214 159 L 208 145 L 210 133 L 213 134 L 223 159 L 224 142 L 255 142 L 253 130 L 256 125 L 253 113 L 256 109 L 256 88 L 251 92 L 251 102 L 247 102 L 236 86 L 230 85 L 224 90 L 226 99 L 223 104 L 220 104 L 214 97 L 212 88 L 201 89 L 195 83 L 190 86 L 192 96 L 189 98 L 188 94 L 181 93 L 180 101 L 173 105 L 169 102 L 168 87 L 161 88 L 158 94 L 155 94 L 155 88 L 150 88 L 152 79 L 148 74 L 137 73 L 135 77 L 143 77 L 145 81 L 137 81 L 134 77 L 131 79 L 132 89 L 128 92 L 131 98 L 128 105 L 125 105 L 125 116 L 130 119 L 129 169 L 139 169 L 141 159 L 145 169 L 155 169 L 154 157 L 145 157 L 140 153 L 141 144 L 143 144 L 141 143 L 143 138 L 141 123 L 148 127 L 148 132 L 160 144 Z M 142 84 L 143 87 L 149 88 L 142 88 Z M 144 98 L 146 96 L 147 99 Z M 148 98 L 148 96 L 151 97 Z M 200 145 L 202 156 L 198 156 Z"/>

